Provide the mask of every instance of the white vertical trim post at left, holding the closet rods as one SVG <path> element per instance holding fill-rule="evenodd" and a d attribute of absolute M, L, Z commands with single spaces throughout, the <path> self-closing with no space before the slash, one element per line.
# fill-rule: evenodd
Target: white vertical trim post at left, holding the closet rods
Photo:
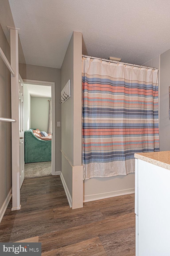
<path fill-rule="evenodd" d="M 19 210 L 20 205 L 20 171 L 19 171 L 19 60 L 18 30 L 10 29 L 11 67 L 15 77 L 11 75 L 11 118 L 12 123 L 12 211 Z"/>

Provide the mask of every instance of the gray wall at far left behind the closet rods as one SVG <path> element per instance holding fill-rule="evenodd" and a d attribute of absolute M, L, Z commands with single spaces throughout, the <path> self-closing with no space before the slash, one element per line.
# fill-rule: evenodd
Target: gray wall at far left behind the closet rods
<path fill-rule="evenodd" d="M 10 46 L 0 25 L 0 47 L 10 62 Z M 0 57 L 0 117 L 11 118 L 11 73 Z M 0 122 L 0 209 L 12 186 L 11 123 Z"/>

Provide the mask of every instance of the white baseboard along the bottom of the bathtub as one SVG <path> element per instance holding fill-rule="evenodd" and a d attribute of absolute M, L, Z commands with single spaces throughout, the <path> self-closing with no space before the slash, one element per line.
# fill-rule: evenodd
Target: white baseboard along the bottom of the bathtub
<path fill-rule="evenodd" d="M 135 192 L 135 188 L 129 188 L 129 189 L 106 192 L 101 194 L 87 195 L 87 196 L 83 196 L 83 203 L 104 199 L 104 198 L 109 198 L 109 197 L 114 197 L 114 196 L 133 194 L 134 192 Z"/>

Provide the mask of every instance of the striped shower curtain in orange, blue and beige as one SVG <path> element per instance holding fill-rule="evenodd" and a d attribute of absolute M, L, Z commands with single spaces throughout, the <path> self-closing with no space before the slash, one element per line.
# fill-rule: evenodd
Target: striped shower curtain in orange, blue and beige
<path fill-rule="evenodd" d="M 84 178 L 134 172 L 134 153 L 159 151 L 158 70 L 82 59 Z"/>

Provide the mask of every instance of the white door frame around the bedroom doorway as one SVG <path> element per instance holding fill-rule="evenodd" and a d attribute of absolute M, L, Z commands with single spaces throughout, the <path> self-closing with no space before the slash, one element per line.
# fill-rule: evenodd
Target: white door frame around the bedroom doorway
<path fill-rule="evenodd" d="M 51 106 L 52 106 L 52 146 L 51 146 L 51 160 L 52 160 L 52 175 L 55 173 L 55 82 L 46 82 L 38 80 L 23 79 L 24 84 L 36 84 L 51 86 Z"/>

